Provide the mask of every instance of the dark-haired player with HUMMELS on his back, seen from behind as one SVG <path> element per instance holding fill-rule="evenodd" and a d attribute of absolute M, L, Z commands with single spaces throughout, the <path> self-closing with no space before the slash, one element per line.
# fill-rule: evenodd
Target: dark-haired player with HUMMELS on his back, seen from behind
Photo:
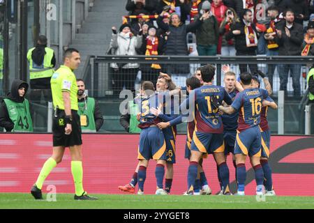
<path fill-rule="evenodd" d="M 213 153 L 223 182 L 223 194 L 230 194 L 229 169 L 224 155 L 223 123 L 218 114 L 218 109 L 211 105 L 211 98 L 218 97 L 220 102 L 224 100 L 228 105 L 232 103 L 232 100 L 223 87 L 212 84 L 215 70 L 216 68 L 211 65 L 201 67 L 200 71 L 204 85 L 190 93 L 194 95 L 195 100 L 196 124 L 190 150 L 187 194 L 193 194 L 193 187 L 197 178 L 197 167 L 204 153 Z M 189 97 L 183 103 L 183 106 L 189 108 L 190 100 L 192 99 Z"/>

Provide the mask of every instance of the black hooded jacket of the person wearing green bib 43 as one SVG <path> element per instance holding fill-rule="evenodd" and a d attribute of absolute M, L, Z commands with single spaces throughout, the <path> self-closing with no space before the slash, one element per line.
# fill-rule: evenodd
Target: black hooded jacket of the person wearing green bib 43
<path fill-rule="evenodd" d="M 20 97 L 18 90 L 20 89 L 21 85 L 24 85 L 25 87 L 25 93 L 27 94 L 27 90 L 29 89 L 29 84 L 26 82 L 23 82 L 20 79 L 15 79 L 11 86 L 11 91 L 8 93 L 7 97 L 10 100 L 13 100 L 13 102 L 22 103 L 24 102 L 24 97 Z M 0 106 L 0 126 L 5 128 L 7 132 L 11 132 L 14 128 L 13 121 L 10 120 L 8 109 L 6 107 L 6 102 L 2 100 L 1 106 Z"/>

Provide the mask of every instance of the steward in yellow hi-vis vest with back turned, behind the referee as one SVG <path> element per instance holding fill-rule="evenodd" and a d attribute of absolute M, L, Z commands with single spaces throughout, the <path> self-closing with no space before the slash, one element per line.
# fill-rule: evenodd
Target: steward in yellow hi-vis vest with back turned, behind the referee
<path fill-rule="evenodd" d="M 39 36 L 36 47 L 29 49 L 27 61 L 29 61 L 31 100 L 40 102 L 42 93 L 46 102 L 51 100 L 50 78 L 54 74 L 56 59 L 54 50 L 47 47 L 45 36 Z"/>

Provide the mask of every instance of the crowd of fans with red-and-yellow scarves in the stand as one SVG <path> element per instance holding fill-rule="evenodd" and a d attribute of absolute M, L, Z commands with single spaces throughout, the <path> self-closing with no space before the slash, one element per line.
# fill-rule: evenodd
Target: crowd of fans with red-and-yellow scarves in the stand
<path fill-rule="evenodd" d="M 313 0 L 127 0 L 126 10 L 129 16 L 120 33 L 113 30 L 115 45 L 111 47 L 117 55 L 311 56 L 314 52 Z M 189 38 L 194 39 L 195 49 L 188 49 Z M 130 86 L 137 70 L 142 70 L 142 80 L 153 82 L 160 71 L 158 64 L 112 65 L 118 67 L 129 69 Z M 240 72 L 248 70 L 246 65 L 239 68 Z M 275 68 L 267 66 L 271 84 Z M 249 69 L 253 73 L 257 65 L 251 64 Z M 280 90 L 287 91 L 290 71 L 294 96 L 299 96 L 301 65 L 282 64 L 277 70 Z M 190 73 L 188 64 L 167 71 L 172 77 Z M 119 73 L 116 78 L 125 78 Z"/>

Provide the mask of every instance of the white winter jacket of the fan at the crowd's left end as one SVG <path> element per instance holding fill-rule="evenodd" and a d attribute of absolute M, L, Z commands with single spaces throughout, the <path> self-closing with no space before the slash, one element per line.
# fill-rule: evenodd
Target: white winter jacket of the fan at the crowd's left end
<path fill-rule="evenodd" d="M 110 47 L 115 49 L 114 55 L 119 56 L 134 56 L 137 55 L 136 49 L 139 49 L 142 46 L 142 36 L 133 36 L 129 38 L 130 33 L 118 33 L 112 34 L 112 39 L 110 42 Z M 138 63 L 127 63 L 122 68 L 139 68 Z M 112 68 L 118 68 L 117 63 L 111 64 Z"/>

